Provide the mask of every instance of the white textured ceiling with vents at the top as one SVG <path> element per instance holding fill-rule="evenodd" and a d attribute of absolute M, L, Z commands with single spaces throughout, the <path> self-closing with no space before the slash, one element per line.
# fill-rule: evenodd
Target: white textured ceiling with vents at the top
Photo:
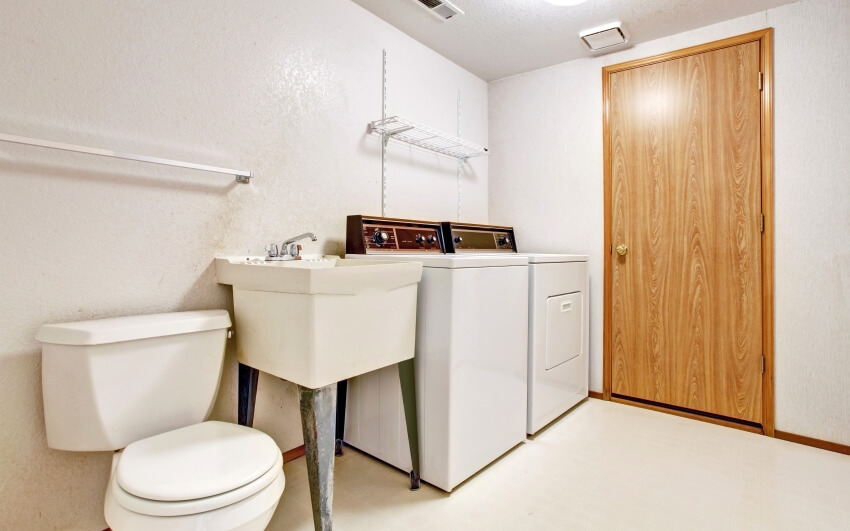
<path fill-rule="evenodd" d="M 545 0 L 450 0 L 465 15 L 446 22 L 415 0 L 353 1 L 492 81 L 590 56 L 578 33 L 609 22 L 621 21 L 630 44 L 637 44 L 796 0 L 587 0 L 572 7 Z"/>

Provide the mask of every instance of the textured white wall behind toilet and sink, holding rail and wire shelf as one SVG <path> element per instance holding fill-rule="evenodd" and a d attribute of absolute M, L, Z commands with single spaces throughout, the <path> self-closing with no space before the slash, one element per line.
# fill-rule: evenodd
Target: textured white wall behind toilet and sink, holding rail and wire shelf
<path fill-rule="evenodd" d="M 0 132 L 256 172 L 190 170 L 0 143 L 0 529 L 105 527 L 110 455 L 46 447 L 43 323 L 228 308 L 216 255 L 380 215 L 381 50 L 389 114 L 487 143 L 487 85 L 348 0 L 0 0 Z M 487 161 L 464 175 L 487 219 Z M 391 147 L 388 215 L 454 219 L 455 164 Z M 235 360 L 214 417 L 234 420 Z M 301 444 L 293 386 L 260 382 L 255 425 Z"/>

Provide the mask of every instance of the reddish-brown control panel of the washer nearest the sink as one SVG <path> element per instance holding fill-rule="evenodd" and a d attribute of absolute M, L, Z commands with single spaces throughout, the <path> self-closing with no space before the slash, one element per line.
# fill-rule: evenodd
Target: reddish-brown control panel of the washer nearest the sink
<path fill-rule="evenodd" d="M 442 228 L 432 221 L 348 216 L 346 254 L 445 253 Z"/>

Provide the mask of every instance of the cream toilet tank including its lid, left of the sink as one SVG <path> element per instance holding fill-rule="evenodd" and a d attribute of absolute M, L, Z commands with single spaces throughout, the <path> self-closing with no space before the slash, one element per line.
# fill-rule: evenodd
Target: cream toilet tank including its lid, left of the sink
<path fill-rule="evenodd" d="M 202 422 L 218 392 L 230 315 L 164 313 L 42 326 L 47 445 L 118 450 Z"/>

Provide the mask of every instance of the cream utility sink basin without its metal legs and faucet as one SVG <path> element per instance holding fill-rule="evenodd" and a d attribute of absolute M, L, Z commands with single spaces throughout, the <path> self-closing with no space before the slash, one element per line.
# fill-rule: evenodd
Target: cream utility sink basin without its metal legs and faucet
<path fill-rule="evenodd" d="M 240 363 L 317 389 L 413 357 L 417 262 L 240 256 L 215 271 L 233 286 Z"/>

